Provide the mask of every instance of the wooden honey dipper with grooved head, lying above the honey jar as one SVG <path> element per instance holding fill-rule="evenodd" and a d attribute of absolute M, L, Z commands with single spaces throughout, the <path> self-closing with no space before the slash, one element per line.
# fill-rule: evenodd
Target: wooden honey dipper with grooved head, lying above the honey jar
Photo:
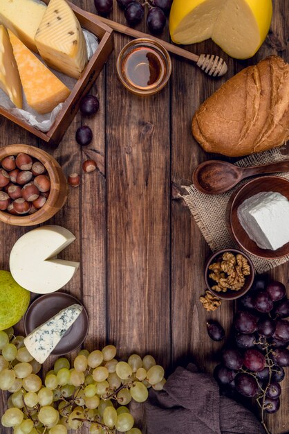
<path fill-rule="evenodd" d="M 140 31 L 135 30 L 134 28 L 123 26 L 115 21 L 111 21 L 111 19 L 107 19 L 104 17 L 100 17 L 97 15 L 97 19 L 100 19 L 104 24 L 110 26 L 118 33 L 123 33 L 124 35 L 132 36 L 132 37 L 149 37 L 151 40 L 155 40 L 159 44 L 167 49 L 170 53 L 174 53 L 179 55 L 182 58 L 186 58 L 188 60 L 192 60 L 192 62 L 196 62 L 198 67 L 200 67 L 205 73 L 212 77 L 221 77 L 225 75 L 227 72 L 227 64 L 225 60 L 219 58 L 218 55 L 214 54 L 201 54 L 196 55 L 194 53 L 190 53 L 187 50 L 181 49 L 179 46 L 169 44 L 169 42 L 160 40 L 158 37 L 147 35 L 147 33 L 142 33 Z"/>

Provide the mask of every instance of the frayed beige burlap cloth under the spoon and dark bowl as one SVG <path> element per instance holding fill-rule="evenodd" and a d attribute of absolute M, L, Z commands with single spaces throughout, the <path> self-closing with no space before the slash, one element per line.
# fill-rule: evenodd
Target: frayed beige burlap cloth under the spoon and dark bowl
<path fill-rule="evenodd" d="M 279 149 L 273 149 L 264 153 L 250 155 L 235 164 L 240 167 L 261 166 L 261 164 L 279 162 L 284 159 L 289 159 L 288 151 L 284 155 Z M 289 172 L 275 173 L 275 175 L 285 177 L 289 180 Z M 239 182 L 239 184 L 230 191 L 216 196 L 199 193 L 194 188 L 194 185 L 183 187 L 187 191 L 183 199 L 187 203 L 187 206 L 196 220 L 196 224 L 213 252 L 226 248 L 239 248 L 239 246 L 234 243 L 227 230 L 225 210 L 232 193 L 234 193 L 236 189 L 239 189 L 242 184 L 248 182 L 248 180 L 252 180 L 252 177 Z M 251 254 L 249 254 L 249 256 L 258 273 L 268 271 L 289 260 L 289 255 L 281 259 L 262 259 Z"/>

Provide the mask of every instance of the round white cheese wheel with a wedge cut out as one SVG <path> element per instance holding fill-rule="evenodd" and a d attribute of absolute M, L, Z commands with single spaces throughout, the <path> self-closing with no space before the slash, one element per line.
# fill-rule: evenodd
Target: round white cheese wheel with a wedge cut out
<path fill-rule="evenodd" d="M 68 283 L 80 266 L 57 259 L 57 254 L 75 241 L 65 227 L 37 227 L 21 236 L 10 253 L 10 272 L 23 288 L 37 294 L 53 293 Z"/>

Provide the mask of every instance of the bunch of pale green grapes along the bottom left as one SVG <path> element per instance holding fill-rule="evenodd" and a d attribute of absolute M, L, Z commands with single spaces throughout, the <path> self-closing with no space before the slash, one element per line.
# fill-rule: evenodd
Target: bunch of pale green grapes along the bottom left
<path fill-rule="evenodd" d="M 145 402 L 151 387 L 162 390 L 165 371 L 152 356 L 132 354 L 126 362 L 116 352 L 106 345 L 82 349 L 73 363 L 58 358 L 42 382 L 23 336 L 12 327 L 0 331 L 0 389 L 11 393 L 2 425 L 14 434 L 67 434 L 83 424 L 91 434 L 142 434 L 127 405 Z"/>

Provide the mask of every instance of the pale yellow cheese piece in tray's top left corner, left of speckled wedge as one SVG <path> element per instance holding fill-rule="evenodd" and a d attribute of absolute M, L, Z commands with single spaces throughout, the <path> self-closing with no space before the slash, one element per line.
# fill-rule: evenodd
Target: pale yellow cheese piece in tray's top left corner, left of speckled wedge
<path fill-rule="evenodd" d="M 0 24 L 37 52 L 34 37 L 46 7 L 38 0 L 0 0 Z"/>

